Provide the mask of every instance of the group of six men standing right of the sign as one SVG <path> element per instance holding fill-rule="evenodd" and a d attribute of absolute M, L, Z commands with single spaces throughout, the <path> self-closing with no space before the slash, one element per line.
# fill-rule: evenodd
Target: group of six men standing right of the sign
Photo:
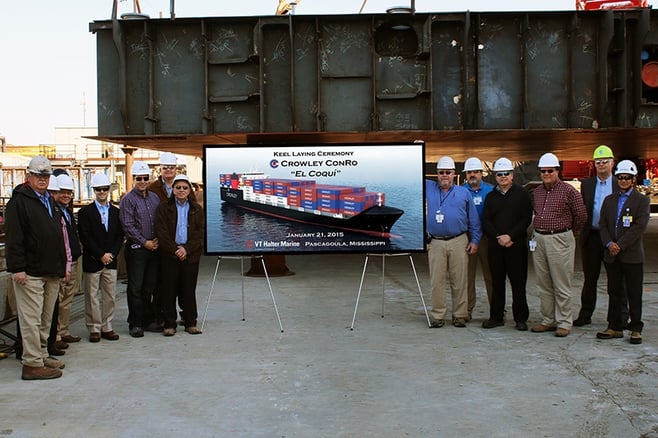
<path fill-rule="evenodd" d="M 452 324 L 465 327 L 475 307 L 475 278 L 480 264 L 489 301 L 483 328 L 505 325 L 505 284 L 512 289 L 517 330 L 528 330 L 526 296 L 528 257 L 532 255 L 541 320 L 532 332 L 566 337 L 573 326 L 591 324 L 601 264 L 609 296 L 607 328 L 599 339 L 642 343 L 643 234 L 649 223 L 649 199 L 635 190 L 637 166 L 617 163 L 606 145 L 593 153 L 596 175 L 581 192 L 559 177 L 552 153 L 539 158 L 541 184 L 532 192 L 514 182 L 514 165 L 505 157 L 493 163 L 496 185 L 483 181 L 475 157 L 464 163 L 465 182 L 455 183 L 455 162 L 441 157 L 437 180 L 426 180 L 426 229 L 432 291 L 430 324 L 443 327 L 452 303 Z M 614 171 L 613 171 L 614 170 Z M 532 227 L 531 227 L 532 225 Z M 584 284 L 581 308 L 573 319 L 572 284 L 576 234 L 580 233 Z"/>

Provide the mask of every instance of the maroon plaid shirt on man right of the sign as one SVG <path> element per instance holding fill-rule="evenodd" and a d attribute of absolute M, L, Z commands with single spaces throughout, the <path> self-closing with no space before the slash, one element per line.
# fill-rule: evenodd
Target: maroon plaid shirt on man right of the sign
<path fill-rule="evenodd" d="M 533 225 L 539 230 L 579 231 L 587 221 L 587 209 L 580 193 L 562 180 L 550 190 L 542 184 L 532 192 Z"/>

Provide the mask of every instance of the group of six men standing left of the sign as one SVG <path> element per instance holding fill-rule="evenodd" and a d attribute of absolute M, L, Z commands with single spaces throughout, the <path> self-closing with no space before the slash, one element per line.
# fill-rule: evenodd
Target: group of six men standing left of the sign
<path fill-rule="evenodd" d="M 80 257 L 89 342 L 119 339 L 112 321 L 124 243 L 130 335 L 143 337 L 148 330 L 173 336 L 178 307 L 185 331 L 201 333 L 196 281 L 203 209 L 189 178 L 177 173 L 174 154 L 160 155 L 160 177 L 154 181 L 143 161 L 131 170 L 134 188 L 120 208 L 110 202 L 107 175 L 94 174 L 94 200 L 80 208 L 77 220 L 73 179 L 62 169 L 53 171 L 46 157 L 32 158 L 25 182 L 14 189 L 5 209 L 6 260 L 16 296 L 15 350 L 23 380 L 60 377 L 65 363 L 54 356 L 81 340 L 69 331 Z"/>

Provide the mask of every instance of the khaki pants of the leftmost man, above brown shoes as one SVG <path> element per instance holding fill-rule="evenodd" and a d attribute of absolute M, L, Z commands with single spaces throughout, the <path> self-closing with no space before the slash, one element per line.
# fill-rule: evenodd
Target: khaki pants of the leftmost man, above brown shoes
<path fill-rule="evenodd" d="M 59 293 L 57 277 L 27 276 L 25 284 L 14 281 L 16 311 L 23 339 L 23 365 L 42 367 L 48 357 L 48 335 Z"/>

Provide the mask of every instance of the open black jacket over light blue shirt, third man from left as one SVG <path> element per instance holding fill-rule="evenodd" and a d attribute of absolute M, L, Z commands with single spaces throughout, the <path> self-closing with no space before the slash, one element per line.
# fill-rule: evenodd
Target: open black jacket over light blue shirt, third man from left
<path fill-rule="evenodd" d="M 117 268 L 117 259 L 123 244 L 123 228 L 119 221 L 119 209 L 111 205 L 108 218 L 108 229 L 101 223 L 101 215 L 96 203 L 85 205 L 78 211 L 78 231 L 82 241 L 82 270 L 98 272 L 103 267 Z M 107 266 L 101 262 L 103 254 L 109 252 L 114 261 Z"/>

